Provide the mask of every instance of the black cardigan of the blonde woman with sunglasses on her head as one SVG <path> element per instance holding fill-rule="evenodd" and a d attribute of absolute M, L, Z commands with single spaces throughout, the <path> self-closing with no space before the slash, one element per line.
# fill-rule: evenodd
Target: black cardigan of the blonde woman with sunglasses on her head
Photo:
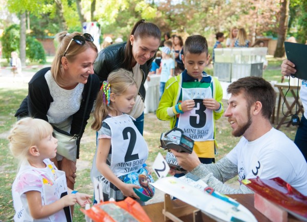
<path fill-rule="evenodd" d="M 50 95 L 49 87 L 45 79 L 45 74 L 50 70 L 50 67 L 43 68 L 38 71 L 29 82 L 28 96 L 21 102 L 20 107 L 16 111 L 15 117 L 33 117 L 38 119 L 43 119 L 48 122 L 47 112 L 50 108 L 50 103 L 53 102 L 53 98 Z M 92 81 L 91 92 L 90 81 Z M 96 99 L 97 93 L 99 92 L 99 79 L 96 75 L 90 75 L 89 80 L 84 85 L 82 92 L 82 101 L 80 109 L 77 113 L 73 115 L 73 121 L 71 125 L 71 135 L 79 134 L 82 129 L 80 138 L 84 132 L 87 120 L 90 118 L 91 110 L 93 108 L 94 101 Z M 89 104 L 85 110 L 85 100 L 87 94 L 90 93 Z M 81 126 L 83 115 L 85 112 L 85 118 L 83 126 Z M 81 128 L 82 127 L 82 128 Z"/>

